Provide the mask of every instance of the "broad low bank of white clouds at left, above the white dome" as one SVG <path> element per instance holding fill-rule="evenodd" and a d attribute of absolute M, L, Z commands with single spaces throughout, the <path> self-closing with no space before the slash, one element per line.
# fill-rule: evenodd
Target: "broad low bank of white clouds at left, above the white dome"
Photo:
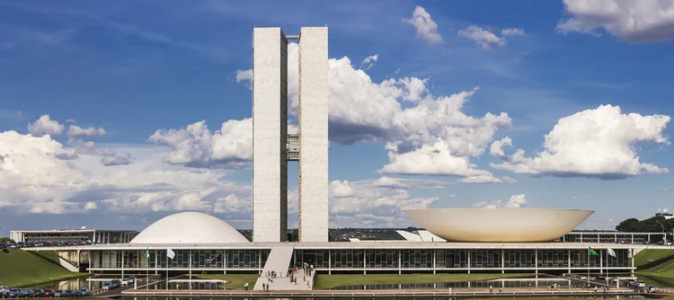
<path fill-rule="evenodd" d="M 101 151 L 130 153 L 137 163 L 108 168 L 100 154 L 79 154 L 50 136 L 33 137 L 15 131 L 0 133 L 0 207 L 12 213 L 75 214 L 105 209 L 125 214 L 153 211 L 214 211 L 217 199 L 235 195 L 250 199 L 251 188 L 224 180 L 225 173 L 161 163 L 163 147 L 118 147 Z M 240 207 L 219 207 L 237 212 Z"/>

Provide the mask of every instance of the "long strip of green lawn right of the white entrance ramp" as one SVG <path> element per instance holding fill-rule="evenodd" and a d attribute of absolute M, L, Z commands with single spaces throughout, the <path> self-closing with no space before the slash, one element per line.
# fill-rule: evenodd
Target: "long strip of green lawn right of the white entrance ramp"
<path fill-rule="evenodd" d="M 498 278 L 518 278 L 530 275 L 531 274 L 318 274 L 315 289 L 377 284 L 460 282 Z"/>

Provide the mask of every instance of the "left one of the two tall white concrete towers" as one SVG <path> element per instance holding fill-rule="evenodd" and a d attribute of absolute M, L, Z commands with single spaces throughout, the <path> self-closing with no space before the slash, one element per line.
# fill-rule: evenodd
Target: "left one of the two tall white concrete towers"
<path fill-rule="evenodd" d="M 253 30 L 253 242 L 288 237 L 288 40 Z"/>

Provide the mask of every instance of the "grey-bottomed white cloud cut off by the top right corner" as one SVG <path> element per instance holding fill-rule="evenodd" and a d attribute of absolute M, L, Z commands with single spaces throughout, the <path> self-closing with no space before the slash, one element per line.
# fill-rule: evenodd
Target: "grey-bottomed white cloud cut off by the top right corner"
<path fill-rule="evenodd" d="M 627 42 L 656 42 L 674 38 L 674 2 L 660 0 L 564 0 L 570 14 L 557 24 L 572 31 L 599 36 L 604 29 Z"/>

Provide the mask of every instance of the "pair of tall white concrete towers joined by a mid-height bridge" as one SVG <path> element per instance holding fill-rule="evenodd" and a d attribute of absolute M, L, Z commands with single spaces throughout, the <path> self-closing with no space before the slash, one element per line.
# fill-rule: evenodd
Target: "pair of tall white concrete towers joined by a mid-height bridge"
<path fill-rule="evenodd" d="M 288 40 L 299 44 L 299 130 L 288 134 Z M 253 30 L 253 242 L 288 237 L 288 161 L 299 167 L 299 241 L 328 241 L 328 28 Z"/>

